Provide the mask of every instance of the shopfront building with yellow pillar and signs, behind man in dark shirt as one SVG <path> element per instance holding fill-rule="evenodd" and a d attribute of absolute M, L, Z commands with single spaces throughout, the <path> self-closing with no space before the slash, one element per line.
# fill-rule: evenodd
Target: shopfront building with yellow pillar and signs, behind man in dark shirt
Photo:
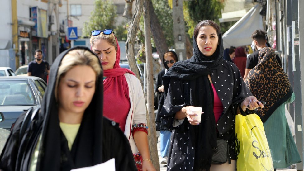
<path fill-rule="evenodd" d="M 61 0 L 3 0 L 0 65 L 15 70 L 33 60 L 36 49 L 41 49 L 43 59 L 52 64 L 59 54 L 60 6 Z"/>

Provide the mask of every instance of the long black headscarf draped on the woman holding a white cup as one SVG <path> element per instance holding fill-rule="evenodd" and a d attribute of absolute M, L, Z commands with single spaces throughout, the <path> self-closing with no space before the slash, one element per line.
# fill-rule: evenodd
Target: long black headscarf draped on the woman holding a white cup
<path fill-rule="evenodd" d="M 195 36 L 193 36 L 193 56 L 185 61 L 175 63 L 163 77 L 165 94 L 171 78 L 180 80 L 196 80 L 191 82 L 190 105 L 202 107 L 204 114 L 201 123 L 193 126 L 195 131 L 195 161 L 194 170 L 209 170 L 211 157 L 217 148 L 216 126 L 213 112 L 214 95 L 208 75 L 216 70 L 223 61 L 223 40 L 221 33 L 216 51 L 211 56 L 205 56 L 199 50 Z M 206 100 L 207 99 L 207 100 Z"/>

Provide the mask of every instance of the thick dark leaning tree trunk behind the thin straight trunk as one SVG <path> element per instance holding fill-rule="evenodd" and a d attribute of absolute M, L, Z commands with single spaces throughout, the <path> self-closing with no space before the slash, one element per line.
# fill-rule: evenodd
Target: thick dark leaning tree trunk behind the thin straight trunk
<path fill-rule="evenodd" d="M 158 18 L 154 12 L 152 1 L 150 0 L 148 3 L 152 37 L 155 42 L 157 52 L 159 54 L 159 58 L 162 59 L 164 53 L 168 50 L 168 45 L 164 36 L 163 29 L 161 28 Z"/>

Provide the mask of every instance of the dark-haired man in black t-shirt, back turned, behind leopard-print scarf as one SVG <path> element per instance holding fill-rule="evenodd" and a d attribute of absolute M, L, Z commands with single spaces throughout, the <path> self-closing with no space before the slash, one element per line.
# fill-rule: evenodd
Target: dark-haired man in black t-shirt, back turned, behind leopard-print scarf
<path fill-rule="evenodd" d="M 251 38 L 254 41 L 255 47 L 258 49 L 254 53 L 250 54 L 246 61 L 246 69 L 244 80 L 248 76 L 248 73 L 251 69 L 258 65 L 259 62 L 259 51 L 266 47 L 266 32 L 263 30 L 256 30 L 252 33 Z M 282 67 L 281 59 L 278 55 L 276 55 L 276 59 L 280 66 Z"/>

